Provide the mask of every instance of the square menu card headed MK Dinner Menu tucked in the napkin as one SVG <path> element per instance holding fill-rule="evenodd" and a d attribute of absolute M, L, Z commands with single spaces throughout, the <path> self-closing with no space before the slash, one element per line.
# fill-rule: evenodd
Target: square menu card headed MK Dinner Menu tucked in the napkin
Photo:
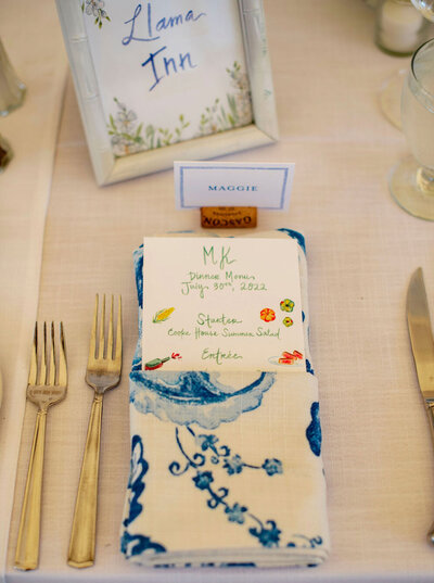
<path fill-rule="evenodd" d="M 145 237 L 145 370 L 305 370 L 293 239 Z"/>

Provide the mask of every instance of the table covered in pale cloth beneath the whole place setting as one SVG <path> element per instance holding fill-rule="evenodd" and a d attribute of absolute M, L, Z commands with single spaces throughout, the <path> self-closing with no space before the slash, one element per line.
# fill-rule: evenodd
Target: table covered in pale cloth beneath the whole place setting
<path fill-rule="evenodd" d="M 434 313 L 434 228 L 390 194 L 390 172 L 409 149 L 379 100 L 410 58 L 376 47 L 375 11 L 362 0 L 264 0 L 264 10 L 279 139 L 219 160 L 295 164 L 289 208 L 259 210 L 256 230 L 306 239 L 330 557 L 315 569 L 228 571 L 146 569 L 120 554 L 138 338 L 132 253 L 144 236 L 209 231 L 199 210 L 176 208 L 171 168 L 97 186 L 55 3 L 2 0 L 0 38 L 27 88 L 0 118 L 13 150 L 0 174 L 2 583 L 434 581 L 434 449 L 406 322 L 418 267 Z M 93 396 L 85 373 L 95 293 L 122 294 L 124 370 L 105 395 L 95 562 L 77 570 L 66 556 Z M 36 320 L 63 321 L 68 386 L 49 414 L 39 568 L 25 572 L 14 554 L 36 418 L 26 401 Z"/>

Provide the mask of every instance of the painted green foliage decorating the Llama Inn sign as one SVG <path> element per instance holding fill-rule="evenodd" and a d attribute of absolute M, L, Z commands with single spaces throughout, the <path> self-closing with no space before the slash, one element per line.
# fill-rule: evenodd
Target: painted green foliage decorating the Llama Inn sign
<path fill-rule="evenodd" d="M 86 3 L 89 3 L 86 8 L 86 12 L 88 9 L 90 10 L 89 14 L 93 13 L 93 10 L 102 11 L 102 7 L 100 7 L 100 4 L 103 5 L 102 0 L 86 0 Z M 85 10 L 84 7 L 82 4 Z M 101 17 L 110 18 L 105 12 L 104 16 L 100 15 L 99 17 L 101 28 Z M 232 68 L 226 71 L 233 87 L 233 92 L 226 96 L 227 106 L 221 104 L 220 99 L 217 98 L 213 106 L 206 107 L 205 112 L 202 113 L 197 132 L 193 136 L 184 136 L 191 122 L 188 122 L 183 114 L 179 115 L 178 125 L 174 129 L 156 127 L 153 124 L 144 125 L 143 122 L 138 122 L 138 116 L 133 110 L 129 110 L 125 103 L 114 98 L 117 111 L 115 114 L 110 114 L 110 123 L 107 124 L 114 155 L 120 157 L 146 150 L 155 150 L 186 139 L 200 138 L 250 124 L 252 122 L 252 104 L 247 75 L 242 72 L 241 65 L 237 62 L 233 63 Z"/>

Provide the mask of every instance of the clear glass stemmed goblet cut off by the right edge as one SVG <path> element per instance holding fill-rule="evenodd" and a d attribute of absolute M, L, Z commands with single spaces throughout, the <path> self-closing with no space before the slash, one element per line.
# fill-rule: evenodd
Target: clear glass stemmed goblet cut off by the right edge
<path fill-rule="evenodd" d="M 391 193 L 411 215 L 434 220 L 434 39 L 411 60 L 403 87 L 401 123 L 413 155 L 392 170 Z"/>

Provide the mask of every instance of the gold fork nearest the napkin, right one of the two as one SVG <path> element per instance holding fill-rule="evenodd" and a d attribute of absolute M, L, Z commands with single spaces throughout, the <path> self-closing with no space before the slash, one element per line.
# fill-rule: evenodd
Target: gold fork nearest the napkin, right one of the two
<path fill-rule="evenodd" d="M 75 503 L 73 529 L 67 562 L 71 567 L 91 567 L 94 561 L 98 472 L 100 460 L 102 400 L 104 392 L 119 383 L 122 371 L 122 301 L 118 300 L 116 340 L 113 338 L 113 295 L 110 309 L 107 343 L 105 346 L 105 294 L 102 302 L 99 341 L 97 294 L 92 332 L 90 337 L 86 382 L 94 390 L 85 455 Z M 105 350 L 104 350 L 105 348 Z"/>

